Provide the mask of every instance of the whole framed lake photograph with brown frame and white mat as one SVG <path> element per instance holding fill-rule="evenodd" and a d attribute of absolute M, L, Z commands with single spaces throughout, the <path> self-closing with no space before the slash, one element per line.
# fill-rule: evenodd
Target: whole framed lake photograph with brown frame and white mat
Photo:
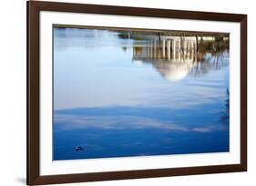
<path fill-rule="evenodd" d="M 27 184 L 247 171 L 247 15 L 27 2 Z"/>

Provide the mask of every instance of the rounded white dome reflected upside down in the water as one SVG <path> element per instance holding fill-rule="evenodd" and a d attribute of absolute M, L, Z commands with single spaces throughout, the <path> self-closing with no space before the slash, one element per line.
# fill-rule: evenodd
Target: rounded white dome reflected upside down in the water
<path fill-rule="evenodd" d="M 182 62 L 156 62 L 153 65 L 165 79 L 171 82 L 185 78 L 193 67 L 193 64 Z"/>

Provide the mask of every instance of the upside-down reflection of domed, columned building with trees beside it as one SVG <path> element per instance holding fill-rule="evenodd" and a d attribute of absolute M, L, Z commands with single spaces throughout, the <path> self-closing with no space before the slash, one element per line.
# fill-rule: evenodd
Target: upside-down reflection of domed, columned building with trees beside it
<path fill-rule="evenodd" d="M 229 37 L 152 36 L 133 44 L 132 60 L 152 64 L 165 79 L 179 81 L 189 74 L 199 76 L 228 65 Z"/>

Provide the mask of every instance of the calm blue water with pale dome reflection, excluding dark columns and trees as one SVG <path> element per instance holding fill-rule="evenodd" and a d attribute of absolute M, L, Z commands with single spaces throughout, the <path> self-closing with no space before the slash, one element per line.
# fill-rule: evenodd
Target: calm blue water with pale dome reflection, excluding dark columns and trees
<path fill-rule="evenodd" d="M 229 152 L 228 48 L 174 62 L 148 35 L 54 29 L 53 160 Z"/>

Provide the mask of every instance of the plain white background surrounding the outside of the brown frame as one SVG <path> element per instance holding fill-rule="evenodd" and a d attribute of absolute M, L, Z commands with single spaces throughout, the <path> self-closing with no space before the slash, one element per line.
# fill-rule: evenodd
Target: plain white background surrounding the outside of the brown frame
<path fill-rule="evenodd" d="M 256 5 L 253 0 L 68 0 L 98 5 L 128 5 L 247 14 L 249 24 L 249 171 L 212 175 L 180 176 L 128 181 L 101 181 L 66 185 L 255 185 L 256 104 L 255 35 Z M 26 184 L 26 1 L 3 0 L 0 28 L 0 185 Z"/>

